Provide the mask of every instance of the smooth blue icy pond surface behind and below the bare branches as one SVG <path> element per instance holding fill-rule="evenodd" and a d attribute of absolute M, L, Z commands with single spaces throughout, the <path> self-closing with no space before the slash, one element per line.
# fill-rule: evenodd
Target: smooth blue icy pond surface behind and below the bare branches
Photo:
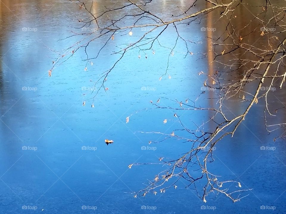
<path fill-rule="evenodd" d="M 97 2 L 98 7 L 103 4 L 104 1 Z M 178 3 L 164 1 L 157 10 L 166 12 L 166 4 Z M 105 51 L 93 67 L 89 65 L 88 71 L 84 71 L 85 63 L 81 60 L 84 54 L 78 55 L 53 71 L 49 78 L 47 71 L 53 56 L 49 49 L 62 50 L 76 42 L 74 38 L 58 40 L 70 35 L 69 17 L 77 12 L 77 7 L 63 0 L 0 3 L 0 213 L 272 212 L 261 210 L 261 206 L 275 206 L 275 213 L 286 210 L 285 145 L 282 141 L 273 143 L 263 128 L 254 125 L 263 121 L 256 110 L 250 112 L 233 138 L 217 145 L 216 161 L 211 167 L 216 174 L 237 180 L 244 188 L 253 188 L 248 197 L 232 204 L 225 196 L 218 196 L 204 204 L 194 190 L 184 188 L 185 181 L 176 190 L 157 196 L 134 199 L 133 194 L 128 194 L 143 188 L 143 183 L 161 170 L 161 166 L 128 169 L 129 164 L 178 157 L 190 146 L 165 142 L 156 144 L 156 150 L 142 150 L 142 146 L 149 146 L 148 141 L 160 136 L 139 131 L 171 132 L 175 111 L 142 111 L 130 117 L 128 124 L 125 118 L 150 108 L 150 100 L 156 101 L 158 97 L 195 99 L 204 81 L 197 73 L 208 70 L 209 66 L 207 58 L 196 61 L 199 58 L 196 54 L 205 53 L 207 47 L 203 43 L 193 45 L 195 56 L 186 59 L 183 51 L 178 50 L 170 63 L 172 78 L 161 81 L 158 77 L 164 73 L 166 61 L 162 59 L 167 50 L 158 49 L 147 60 L 144 56 L 139 60 L 136 52 L 133 55 L 130 52 L 108 76 L 108 94 L 99 93 L 95 108 L 88 101 L 82 106 L 91 97 L 90 80 L 96 81 L 115 58 Z M 185 27 L 183 34 L 193 41 L 204 41 L 206 32 L 199 29 L 200 25 Z M 174 33 L 170 29 L 163 35 L 164 42 L 172 43 L 169 35 Z M 118 40 L 118 43 L 132 42 L 128 36 Z M 161 100 L 161 104 L 170 103 Z M 235 103 L 232 107 L 240 108 Z M 188 118 L 204 121 L 208 115 L 187 112 L 185 117 L 186 121 Z M 166 118 L 170 122 L 164 124 Z M 106 146 L 105 139 L 113 139 L 115 143 Z M 276 149 L 260 150 L 261 146 Z M 23 206 L 37 209 L 25 210 Z M 90 206 L 90 210 L 83 210 L 82 206 Z M 202 210 L 201 206 L 216 209 Z"/>

